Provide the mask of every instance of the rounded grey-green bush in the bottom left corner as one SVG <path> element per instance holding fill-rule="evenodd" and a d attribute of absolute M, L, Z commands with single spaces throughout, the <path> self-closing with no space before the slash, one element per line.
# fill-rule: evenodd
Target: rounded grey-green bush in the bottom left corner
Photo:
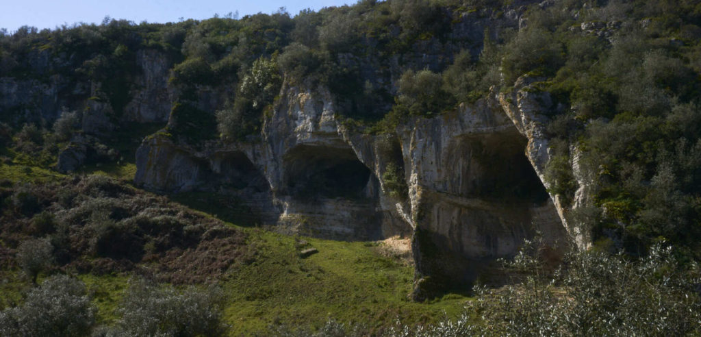
<path fill-rule="evenodd" d="M 65 275 L 46 279 L 24 305 L 0 312 L 0 336 L 87 336 L 93 324 L 85 286 Z"/>

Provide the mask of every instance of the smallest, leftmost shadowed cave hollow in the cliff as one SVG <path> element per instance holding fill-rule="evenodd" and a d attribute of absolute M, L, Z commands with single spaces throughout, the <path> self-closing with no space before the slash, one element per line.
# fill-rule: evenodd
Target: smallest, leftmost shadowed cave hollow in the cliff
<path fill-rule="evenodd" d="M 268 189 L 266 178 L 245 153 L 227 152 L 215 158 L 212 161 L 212 174 L 216 176 L 215 180 L 220 186 L 234 190 L 252 188 L 255 192 Z"/>

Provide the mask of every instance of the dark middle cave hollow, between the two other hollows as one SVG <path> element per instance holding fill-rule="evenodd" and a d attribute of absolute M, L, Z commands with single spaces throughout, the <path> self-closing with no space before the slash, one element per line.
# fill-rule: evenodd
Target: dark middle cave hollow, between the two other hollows
<path fill-rule="evenodd" d="M 287 152 L 285 193 L 301 199 L 367 199 L 371 171 L 350 148 L 299 145 Z"/>

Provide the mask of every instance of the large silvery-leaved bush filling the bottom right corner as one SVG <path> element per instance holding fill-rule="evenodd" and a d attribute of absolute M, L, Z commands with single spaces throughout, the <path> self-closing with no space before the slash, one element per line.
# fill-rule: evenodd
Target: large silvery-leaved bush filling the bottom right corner
<path fill-rule="evenodd" d="M 536 256 L 519 253 L 506 265 L 527 272 L 524 281 L 497 290 L 476 286 L 477 300 L 457 320 L 416 328 L 398 323 L 386 336 L 697 336 L 699 269 L 673 256 L 659 245 L 635 262 L 573 253 L 549 277 L 538 273 Z"/>

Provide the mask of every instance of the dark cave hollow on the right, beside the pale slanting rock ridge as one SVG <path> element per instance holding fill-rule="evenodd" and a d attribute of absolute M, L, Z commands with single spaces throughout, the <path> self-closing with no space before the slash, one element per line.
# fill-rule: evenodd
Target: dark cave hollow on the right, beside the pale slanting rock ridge
<path fill-rule="evenodd" d="M 545 186 L 526 158 L 526 138 L 496 134 L 469 142 L 472 165 L 463 172 L 461 192 L 470 197 L 515 203 L 543 204 Z"/>

